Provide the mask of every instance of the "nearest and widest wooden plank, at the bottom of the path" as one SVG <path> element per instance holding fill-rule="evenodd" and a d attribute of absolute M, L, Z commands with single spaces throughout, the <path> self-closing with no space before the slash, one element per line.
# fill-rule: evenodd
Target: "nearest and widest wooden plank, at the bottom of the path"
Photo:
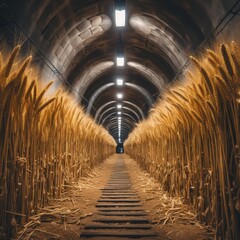
<path fill-rule="evenodd" d="M 155 237 L 157 233 L 154 232 L 123 232 L 123 231 L 83 231 L 81 237 L 125 237 L 125 238 L 142 238 L 142 237 Z"/>

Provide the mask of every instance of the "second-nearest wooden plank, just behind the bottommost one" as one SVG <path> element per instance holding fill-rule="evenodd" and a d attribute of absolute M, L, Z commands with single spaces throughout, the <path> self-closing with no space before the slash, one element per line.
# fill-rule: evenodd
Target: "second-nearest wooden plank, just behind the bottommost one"
<path fill-rule="evenodd" d="M 150 224 L 89 224 L 85 229 L 151 229 Z"/>

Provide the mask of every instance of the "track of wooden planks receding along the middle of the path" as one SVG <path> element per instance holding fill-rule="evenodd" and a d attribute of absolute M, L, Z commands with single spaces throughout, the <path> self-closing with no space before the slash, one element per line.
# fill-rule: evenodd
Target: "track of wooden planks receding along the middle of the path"
<path fill-rule="evenodd" d="M 93 223 L 85 226 L 84 237 L 156 237 L 136 191 L 132 189 L 129 174 L 120 155 L 116 159 L 107 185 L 97 202 Z M 94 224 L 94 223 L 98 224 Z"/>

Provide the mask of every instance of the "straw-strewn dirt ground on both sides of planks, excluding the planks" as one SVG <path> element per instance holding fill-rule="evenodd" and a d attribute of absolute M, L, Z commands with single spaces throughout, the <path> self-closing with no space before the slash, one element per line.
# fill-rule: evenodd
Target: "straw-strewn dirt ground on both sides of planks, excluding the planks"
<path fill-rule="evenodd" d="M 124 157 L 133 187 L 149 214 L 153 229 L 159 232 L 159 239 L 213 239 L 211 229 L 196 221 L 195 215 L 180 199 L 168 197 L 160 184 L 142 171 L 134 160 L 127 155 L 121 156 Z M 51 201 L 48 207 L 32 216 L 19 231 L 18 240 L 79 239 L 84 225 L 94 218 L 100 189 L 106 185 L 117 157 L 119 155 L 108 158 L 87 177 L 73 184 L 61 199 Z"/>

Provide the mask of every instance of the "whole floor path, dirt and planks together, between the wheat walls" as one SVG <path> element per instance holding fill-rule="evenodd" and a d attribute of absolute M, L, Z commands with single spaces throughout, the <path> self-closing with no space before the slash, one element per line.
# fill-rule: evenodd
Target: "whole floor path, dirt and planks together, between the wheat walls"
<path fill-rule="evenodd" d="M 123 154 L 106 159 L 62 198 L 52 200 L 18 236 L 19 240 L 210 240 L 213 231 Z"/>

